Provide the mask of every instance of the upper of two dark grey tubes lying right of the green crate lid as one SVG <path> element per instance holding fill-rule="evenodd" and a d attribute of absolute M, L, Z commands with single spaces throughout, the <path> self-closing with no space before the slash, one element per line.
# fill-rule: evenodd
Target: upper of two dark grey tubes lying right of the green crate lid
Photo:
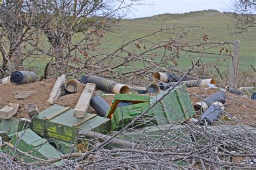
<path fill-rule="evenodd" d="M 221 102 L 221 103 L 224 104 L 226 102 L 226 98 L 227 97 L 226 97 L 226 95 L 223 91 L 217 91 L 216 93 L 204 98 L 203 101 L 200 101 L 200 102 L 196 103 L 194 105 L 194 110 L 196 110 L 196 111 L 205 111 L 214 102 Z"/>

